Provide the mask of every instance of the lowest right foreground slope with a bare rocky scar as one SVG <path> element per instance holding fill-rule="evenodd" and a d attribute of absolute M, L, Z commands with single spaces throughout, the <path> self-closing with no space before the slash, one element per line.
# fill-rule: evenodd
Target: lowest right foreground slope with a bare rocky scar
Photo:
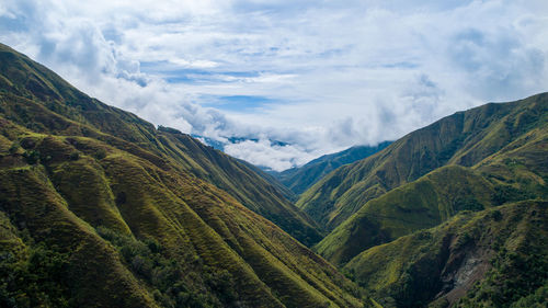
<path fill-rule="evenodd" d="M 548 203 L 479 213 L 362 252 L 344 267 L 384 307 L 544 307 Z"/>

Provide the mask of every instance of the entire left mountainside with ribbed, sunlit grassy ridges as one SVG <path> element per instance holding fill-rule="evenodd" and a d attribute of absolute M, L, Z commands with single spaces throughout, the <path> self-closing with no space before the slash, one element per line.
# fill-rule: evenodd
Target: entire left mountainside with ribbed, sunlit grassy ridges
<path fill-rule="evenodd" d="M 273 223 L 320 238 L 238 160 L 0 45 L 1 306 L 363 306 Z"/>

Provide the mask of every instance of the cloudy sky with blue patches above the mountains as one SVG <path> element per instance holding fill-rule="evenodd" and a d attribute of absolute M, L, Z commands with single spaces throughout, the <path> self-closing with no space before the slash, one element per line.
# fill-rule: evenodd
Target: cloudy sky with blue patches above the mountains
<path fill-rule="evenodd" d="M 277 171 L 545 92 L 546 37 L 545 0 L 0 2 L 1 43 Z"/>

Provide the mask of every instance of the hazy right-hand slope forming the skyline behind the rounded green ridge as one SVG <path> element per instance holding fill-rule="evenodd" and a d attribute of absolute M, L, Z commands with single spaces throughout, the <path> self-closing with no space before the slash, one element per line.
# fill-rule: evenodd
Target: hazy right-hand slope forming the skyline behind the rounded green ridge
<path fill-rule="evenodd" d="M 548 94 L 458 112 L 395 141 L 380 152 L 328 174 L 297 206 L 328 229 L 368 201 L 447 164 L 471 167 L 546 126 Z"/>

